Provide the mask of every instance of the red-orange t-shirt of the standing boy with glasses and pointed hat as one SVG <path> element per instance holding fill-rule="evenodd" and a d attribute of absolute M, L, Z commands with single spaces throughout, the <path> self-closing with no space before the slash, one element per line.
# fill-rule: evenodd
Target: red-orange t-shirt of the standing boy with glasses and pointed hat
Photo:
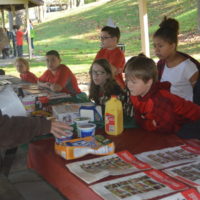
<path fill-rule="evenodd" d="M 125 56 L 123 51 L 121 51 L 118 47 L 112 50 L 102 48 L 97 53 L 95 60 L 101 58 L 106 59 L 111 65 L 115 66 L 117 69 L 122 69 L 122 71 L 124 70 Z M 122 88 L 125 87 L 125 83 L 122 78 L 122 73 L 115 75 L 115 80 Z"/>

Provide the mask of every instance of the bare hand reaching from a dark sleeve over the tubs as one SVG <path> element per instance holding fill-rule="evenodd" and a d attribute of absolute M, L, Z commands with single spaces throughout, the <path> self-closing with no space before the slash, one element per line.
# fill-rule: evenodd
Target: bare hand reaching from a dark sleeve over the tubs
<path fill-rule="evenodd" d="M 72 131 L 73 128 L 64 122 L 52 121 L 51 122 L 51 130 L 50 132 L 57 138 L 61 138 L 62 136 L 67 136 L 66 131 Z"/>

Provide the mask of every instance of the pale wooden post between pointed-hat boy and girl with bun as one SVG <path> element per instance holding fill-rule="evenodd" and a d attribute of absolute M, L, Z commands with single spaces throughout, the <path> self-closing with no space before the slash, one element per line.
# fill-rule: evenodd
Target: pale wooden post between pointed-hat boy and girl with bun
<path fill-rule="evenodd" d="M 138 3 L 139 3 L 142 52 L 146 56 L 149 57 L 150 50 L 149 50 L 149 28 L 148 28 L 148 15 L 147 15 L 147 1 L 146 0 L 138 0 Z"/>

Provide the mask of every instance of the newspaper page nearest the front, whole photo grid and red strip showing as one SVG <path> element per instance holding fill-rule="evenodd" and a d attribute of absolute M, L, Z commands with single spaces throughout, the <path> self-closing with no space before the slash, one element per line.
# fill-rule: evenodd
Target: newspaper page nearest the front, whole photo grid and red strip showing
<path fill-rule="evenodd" d="M 144 200 L 187 189 L 185 184 L 156 169 L 90 187 L 105 200 Z"/>

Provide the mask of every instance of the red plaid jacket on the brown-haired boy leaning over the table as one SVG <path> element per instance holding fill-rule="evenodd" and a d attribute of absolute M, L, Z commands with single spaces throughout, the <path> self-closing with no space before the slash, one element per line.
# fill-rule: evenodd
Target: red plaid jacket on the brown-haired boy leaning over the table
<path fill-rule="evenodd" d="M 175 133 L 180 126 L 200 119 L 200 106 L 169 92 L 168 82 L 152 85 L 144 96 L 131 96 L 137 123 L 147 131 Z"/>

